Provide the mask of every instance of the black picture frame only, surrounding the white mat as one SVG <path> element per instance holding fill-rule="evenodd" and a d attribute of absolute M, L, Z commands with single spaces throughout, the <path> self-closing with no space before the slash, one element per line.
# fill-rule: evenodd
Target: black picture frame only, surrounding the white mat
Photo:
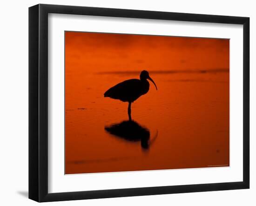
<path fill-rule="evenodd" d="M 243 181 L 48 193 L 48 13 L 243 25 Z M 38 202 L 249 188 L 249 18 L 39 4 L 29 7 L 29 199 Z"/>

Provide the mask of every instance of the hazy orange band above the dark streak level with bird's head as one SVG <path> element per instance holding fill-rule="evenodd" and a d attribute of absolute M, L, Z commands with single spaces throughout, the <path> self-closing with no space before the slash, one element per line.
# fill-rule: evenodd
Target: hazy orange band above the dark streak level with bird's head
<path fill-rule="evenodd" d="M 66 66 L 105 70 L 228 69 L 229 40 L 66 32 Z"/>

